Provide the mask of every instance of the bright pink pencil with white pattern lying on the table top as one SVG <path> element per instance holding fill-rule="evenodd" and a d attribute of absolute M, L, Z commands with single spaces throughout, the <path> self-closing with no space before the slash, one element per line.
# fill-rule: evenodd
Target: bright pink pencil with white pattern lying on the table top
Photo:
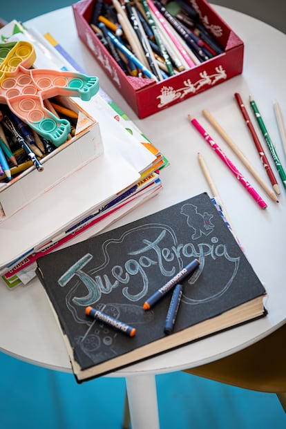
<path fill-rule="evenodd" d="M 207 131 L 204 130 L 204 128 L 200 125 L 200 123 L 195 118 L 191 117 L 191 115 L 188 115 L 188 117 L 191 124 L 193 124 L 193 126 L 198 130 L 198 132 L 202 135 L 202 137 L 204 137 L 204 140 L 206 140 L 209 143 L 211 148 L 216 152 L 216 154 L 220 157 L 220 159 L 223 162 L 225 162 L 225 165 L 229 168 L 231 173 L 233 173 L 233 175 L 236 176 L 236 178 L 242 184 L 242 186 L 245 187 L 245 189 L 249 192 L 251 197 L 254 198 L 254 200 L 258 203 L 259 207 L 261 209 L 266 209 L 267 207 L 266 202 L 263 200 L 263 198 L 260 197 L 260 195 L 256 192 L 256 190 L 253 187 L 251 187 L 251 184 L 245 179 L 242 173 L 238 171 L 238 169 L 236 168 L 235 165 L 233 165 L 231 160 L 227 158 L 227 155 L 225 155 L 222 149 L 220 149 L 220 146 L 218 146 L 218 144 L 213 141 L 211 136 L 207 133 Z"/>

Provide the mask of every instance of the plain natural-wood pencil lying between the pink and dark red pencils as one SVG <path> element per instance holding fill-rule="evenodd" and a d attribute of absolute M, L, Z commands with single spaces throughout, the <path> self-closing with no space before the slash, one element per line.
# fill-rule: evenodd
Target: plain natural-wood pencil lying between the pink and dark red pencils
<path fill-rule="evenodd" d="M 234 153 L 236 153 L 236 155 L 238 156 L 238 158 L 240 159 L 240 161 L 245 164 L 247 170 L 249 171 L 249 173 L 251 173 L 254 178 L 256 179 L 256 181 L 260 184 L 260 186 L 264 189 L 264 191 L 267 193 L 267 195 L 272 198 L 272 200 L 279 202 L 277 200 L 277 196 L 276 193 L 273 191 L 273 189 L 271 189 L 268 184 L 265 182 L 265 180 L 263 180 L 263 178 L 260 177 L 260 175 L 258 174 L 258 172 L 256 171 L 256 169 L 254 169 L 254 167 L 251 165 L 251 163 L 249 162 L 249 160 L 247 160 L 246 156 L 244 155 L 244 153 L 242 153 L 242 151 L 240 151 L 240 149 L 238 148 L 238 146 L 233 142 L 233 140 L 231 140 L 231 137 L 229 137 L 229 135 L 226 133 L 226 131 L 222 128 L 222 126 L 220 126 L 220 124 L 218 124 L 218 122 L 215 120 L 215 118 L 211 115 L 211 113 L 209 113 L 209 111 L 207 110 L 203 110 L 202 111 L 204 117 L 207 118 L 207 120 L 209 121 L 209 123 L 213 126 L 213 128 L 216 129 L 216 131 L 218 131 L 218 133 L 220 134 L 220 136 L 223 138 L 223 140 L 225 140 L 225 142 L 229 145 L 229 147 L 233 150 Z"/>

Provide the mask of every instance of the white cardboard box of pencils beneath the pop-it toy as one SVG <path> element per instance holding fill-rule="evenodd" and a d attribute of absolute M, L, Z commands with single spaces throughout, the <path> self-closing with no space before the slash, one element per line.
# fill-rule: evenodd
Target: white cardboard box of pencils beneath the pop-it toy
<path fill-rule="evenodd" d="M 64 97 L 61 104 L 78 113 L 75 136 L 41 159 L 43 171 L 39 172 L 31 166 L 0 187 L 0 221 L 12 216 L 104 152 L 99 123 L 72 99 Z"/>

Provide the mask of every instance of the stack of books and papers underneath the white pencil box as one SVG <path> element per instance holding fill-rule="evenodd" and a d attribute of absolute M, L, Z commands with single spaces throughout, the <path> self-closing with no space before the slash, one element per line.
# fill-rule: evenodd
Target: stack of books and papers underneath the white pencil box
<path fill-rule="evenodd" d="M 17 21 L 3 27 L 1 37 L 30 41 L 35 68 L 77 68 Z M 168 161 L 108 95 L 100 89 L 90 102 L 75 102 L 99 123 L 104 153 L 0 222 L 6 243 L 0 274 L 10 289 L 35 277 L 39 256 L 97 234 L 162 189 L 159 171 Z"/>

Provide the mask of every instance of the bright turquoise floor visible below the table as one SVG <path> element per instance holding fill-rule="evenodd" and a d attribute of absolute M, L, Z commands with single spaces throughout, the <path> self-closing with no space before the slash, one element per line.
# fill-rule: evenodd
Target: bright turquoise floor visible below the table
<path fill-rule="evenodd" d="M 120 429 L 125 382 L 30 365 L 0 353 L 1 429 Z M 285 429 L 276 395 L 251 392 L 182 372 L 156 378 L 160 429 Z M 152 428 L 146 428 L 152 429 Z"/>

